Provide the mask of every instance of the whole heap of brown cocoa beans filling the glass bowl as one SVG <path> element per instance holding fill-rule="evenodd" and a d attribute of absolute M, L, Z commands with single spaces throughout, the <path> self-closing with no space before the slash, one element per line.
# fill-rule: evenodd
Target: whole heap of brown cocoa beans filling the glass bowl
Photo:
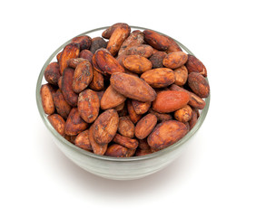
<path fill-rule="evenodd" d="M 41 98 L 54 129 L 95 155 L 131 157 L 172 146 L 194 127 L 210 93 L 202 61 L 171 38 L 118 23 L 77 36 L 44 71 Z"/>

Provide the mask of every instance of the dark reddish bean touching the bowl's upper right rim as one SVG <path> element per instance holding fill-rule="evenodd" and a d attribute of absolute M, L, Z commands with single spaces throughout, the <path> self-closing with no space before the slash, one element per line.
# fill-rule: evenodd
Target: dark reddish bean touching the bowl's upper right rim
<path fill-rule="evenodd" d="M 207 70 L 203 65 L 202 61 L 197 59 L 195 56 L 188 54 L 188 61 L 186 62 L 186 67 L 191 72 L 199 72 L 202 76 L 207 77 Z"/>

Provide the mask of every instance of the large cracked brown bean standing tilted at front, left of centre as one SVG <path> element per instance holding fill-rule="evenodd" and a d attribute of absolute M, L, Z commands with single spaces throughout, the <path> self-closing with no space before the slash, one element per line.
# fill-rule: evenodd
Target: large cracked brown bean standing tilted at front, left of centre
<path fill-rule="evenodd" d="M 105 110 L 94 121 L 93 135 L 98 144 L 110 143 L 116 134 L 119 117 L 115 109 Z"/>

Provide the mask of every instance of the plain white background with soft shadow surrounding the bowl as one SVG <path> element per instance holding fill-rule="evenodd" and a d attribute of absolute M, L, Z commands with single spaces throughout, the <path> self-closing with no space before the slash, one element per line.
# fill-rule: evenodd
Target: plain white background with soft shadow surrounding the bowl
<path fill-rule="evenodd" d="M 0 216 L 256 216 L 255 1 L 2 1 Z M 79 33 L 124 22 L 169 34 L 208 69 L 211 107 L 161 172 L 111 181 L 54 145 L 35 103 L 44 61 Z"/>

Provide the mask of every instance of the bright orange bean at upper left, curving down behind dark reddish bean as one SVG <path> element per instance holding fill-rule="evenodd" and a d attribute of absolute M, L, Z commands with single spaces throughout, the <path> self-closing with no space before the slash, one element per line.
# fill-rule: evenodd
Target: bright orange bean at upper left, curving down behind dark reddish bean
<path fill-rule="evenodd" d="M 61 75 L 64 72 L 64 69 L 67 68 L 67 61 L 72 58 L 77 58 L 79 56 L 80 47 L 78 43 L 69 43 L 64 47 L 64 51 L 60 56 L 60 73 Z"/>

